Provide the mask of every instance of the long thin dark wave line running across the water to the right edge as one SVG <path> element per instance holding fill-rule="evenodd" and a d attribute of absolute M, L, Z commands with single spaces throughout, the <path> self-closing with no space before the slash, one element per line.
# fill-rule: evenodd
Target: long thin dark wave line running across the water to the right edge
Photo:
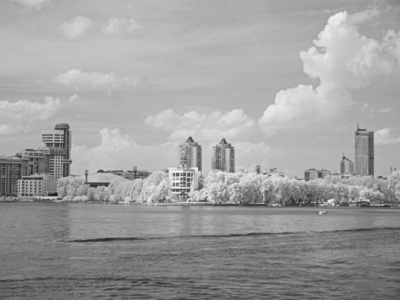
<path fill-rule="evenodd" d="M 345 232 L 366 232 L 366 231 L 383 231 L 393 230 L 400 231 L 398 227 L 378 227 L 378 228 L 356 228 L 332 231 L 286 231 L 286 232 L 248 232 L 248 233 L 231 233 L 231 234 L 211 234 L 211 235 L 183 235 L 183 236 L 155 236 L 155 237 L 105 237 L 105 238 L 91 238 L 91 239 L 76 239 L 69 240 L 67 243 L 105 243 L 115 241 L 146 241 L 146 240 L 161 240 L 161 239 L 179 239 L 179 238 L 234 238 L 234 237 L 256 237 L 256 236 L 280 236 L 280 235 L 321 235 L 332 233 L 345 233 Z"/>

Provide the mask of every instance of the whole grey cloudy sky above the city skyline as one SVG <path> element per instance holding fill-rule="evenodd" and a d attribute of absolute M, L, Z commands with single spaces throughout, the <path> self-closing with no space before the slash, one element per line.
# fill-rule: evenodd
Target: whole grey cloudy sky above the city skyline
<path fill-rule="evenodd" d="M 0 0 L 0 155 L 72 130 L 72 173 L 161 170 L 178 146 L 236 168 L 339 171 L 375 132 L 400 169 L 400 0 Z"/>

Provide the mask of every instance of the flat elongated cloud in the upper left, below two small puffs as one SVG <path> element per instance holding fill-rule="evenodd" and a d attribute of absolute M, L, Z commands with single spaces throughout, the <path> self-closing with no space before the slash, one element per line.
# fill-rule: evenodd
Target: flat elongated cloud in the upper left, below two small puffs
<path fill-rule="evenodd" d="M 143 81 L 143 77 L 119 77 L 113 72 L 104 74 L 101 72 L 83 72 L 81 70 L 72 69 L 68 72 L 58 74 L 54 81 L 62 85 L 74 86 L 76 88 L 94 86 L 100 89 L 112 91 L 121 86 L 135 87 Z"/>

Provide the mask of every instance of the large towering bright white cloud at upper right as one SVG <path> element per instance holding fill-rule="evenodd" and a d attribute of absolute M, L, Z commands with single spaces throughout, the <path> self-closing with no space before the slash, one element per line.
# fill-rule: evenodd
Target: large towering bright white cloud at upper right
<path fill-rule="evenodd" d="M 340 12 L 329 18 L 314 46 L 300 52 L 304 72 L 319 79 L 319 85 L 280 91 L 258 121 L 267 136 L 282 128 L 341 117 L 354 103 L 350 90 L 399 69 L 400 33 L 388 31 L 382 41 L 377 41 L 359 32 L 360 23 L 379 14 L 373 9 L 353 15 Z"/>

